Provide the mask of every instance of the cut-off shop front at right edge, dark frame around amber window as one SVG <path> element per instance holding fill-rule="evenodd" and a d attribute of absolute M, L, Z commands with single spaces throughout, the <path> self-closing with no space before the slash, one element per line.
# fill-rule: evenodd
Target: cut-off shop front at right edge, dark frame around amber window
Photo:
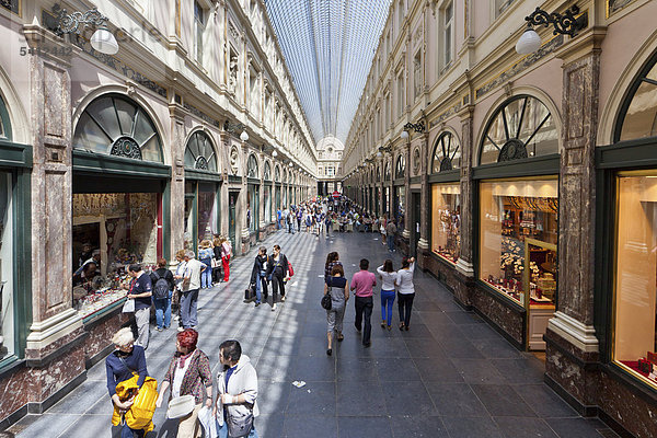
<path fill-rule="evenodd" d="M 608 391 L 595 401 L 636 436 L 655 431 L 657 406 L 656 93 L 653 55 L 624 93 L 612 145 L 596 148 L 595 324 L 599 384 Z M 552 369 L 549 374 L 564 384 Z"/>

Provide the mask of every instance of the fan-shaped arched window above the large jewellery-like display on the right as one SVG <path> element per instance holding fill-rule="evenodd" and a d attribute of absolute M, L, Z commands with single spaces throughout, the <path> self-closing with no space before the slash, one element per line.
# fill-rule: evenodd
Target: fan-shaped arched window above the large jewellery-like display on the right
<path fill-rule="evenodd" d="M 558 152 L 552 114 L 538 99 L 517 95 L 488 120 L 480 149 L 480 164 L 521 160 Z"/>

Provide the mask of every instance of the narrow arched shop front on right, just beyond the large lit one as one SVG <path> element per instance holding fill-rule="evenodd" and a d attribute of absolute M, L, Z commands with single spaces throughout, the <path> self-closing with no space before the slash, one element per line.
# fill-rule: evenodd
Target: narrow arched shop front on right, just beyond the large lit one
<path fill-rule="evenodd" d="M 429 166 L 430 260 L 427 267 L 450 288 L 461 254 L 461 143 L 451 131 L 441 132 L 434 145 Z"/>

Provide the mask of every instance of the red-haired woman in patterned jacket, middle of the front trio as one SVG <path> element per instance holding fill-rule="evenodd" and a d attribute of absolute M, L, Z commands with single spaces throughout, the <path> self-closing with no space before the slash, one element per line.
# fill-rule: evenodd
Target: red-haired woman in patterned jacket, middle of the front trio
<path fill-rule="evenodd" d="M 200 349 L 196 348 L 198 333 L 194 328 L 180 332 L 176 337 L 176 351 L 169 365 L 169 370 L 155 405 L 160 407 L 164 400 L 166 390 L 171 387 L 169 399 L 182 395 L 194 395 L 196 405 L 188 415 L 180 418 L 178 438 L 200 437 L 200 425 L 196 420 L 204 399 L 205 405 L 212 405 L 212 374 L 210 371 L 210 359 Z M 204 394 L 205 393 L 205 394 Z"/>

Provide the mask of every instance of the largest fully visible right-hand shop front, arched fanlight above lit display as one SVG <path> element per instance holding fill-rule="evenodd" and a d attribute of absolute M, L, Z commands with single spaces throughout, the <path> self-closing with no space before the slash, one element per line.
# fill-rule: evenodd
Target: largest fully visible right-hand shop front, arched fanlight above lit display
<path fill-rule="evenodd" d="M 558 130 L 543 102 L 517 95 L 495 111 L 484 132 L 473 171 L 477 281 L 471 300 L 517 346 L 542 350 L 557 299 Z"/>

